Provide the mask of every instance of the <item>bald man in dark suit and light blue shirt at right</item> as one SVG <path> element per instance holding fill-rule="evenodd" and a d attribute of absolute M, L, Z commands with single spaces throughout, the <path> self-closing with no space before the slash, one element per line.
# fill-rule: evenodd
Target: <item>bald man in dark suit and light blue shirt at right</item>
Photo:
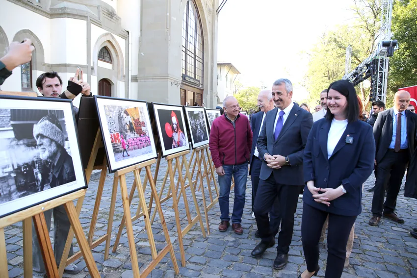
<path fill-rule="evenodd" d="M 417 116 L 407 110 L 409 104 L 410 94 L 407 91 L 396 92 L 394 107 L 378 113 L 373 127 L 376 185 L 370 226 L 377 226 L 383 215 L 397 223 L 404 223 L 394 210 L 402 178 L 416 147 Z M 384 203 L 387 183 L 387 200 Z"/>

